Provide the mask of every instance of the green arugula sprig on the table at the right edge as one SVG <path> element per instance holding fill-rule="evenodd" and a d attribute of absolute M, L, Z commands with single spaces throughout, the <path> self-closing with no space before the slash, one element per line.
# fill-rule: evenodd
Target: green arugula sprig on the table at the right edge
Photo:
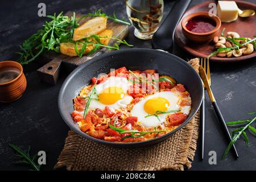
<path fill-rule="evenodd" d="M 252 114 L 256 114 L 256 112 L 248 113 L 248 114 L 252 115 Z M 234 129 L 232 131 L 232 140 L 230 141 L 228 147 L 226 148 L 224 154 L 222 155 L 222 159 L 224 159 L 226 157 L 230 148 L 233 146 L 234 143 L 237 142 L 237 139 L 240 138 L 241 135 L 243 136 L 243 139 L 245 140 L 246 146 L 248 146 L 249 138 L 247 137 L 247 134 L 245 133 L 245 131 L 247 129 L 249 129 L 254 135 L 256 135 L 255 127 L 251 126 L 251 124 L 255 121 L 256 121 L 256 117 L 254 117 L 251 120 L 238 120 L 238 121 L 231 121 L 231 122 L 226 123 L 226 125 L 228 125 L 228 126 L 235 126 L 235 125 L 244 125 L 244 126 L 238 128 L 238 129 Z"/>

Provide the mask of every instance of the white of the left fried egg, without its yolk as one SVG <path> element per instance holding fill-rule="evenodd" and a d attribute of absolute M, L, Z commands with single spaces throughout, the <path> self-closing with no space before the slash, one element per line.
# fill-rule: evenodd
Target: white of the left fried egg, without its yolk
<path fill-rule="evenodd" d="M 109 77 L 106 81 L 95 86 L 96 92 L 100 94 L 101 92 L 103 92 L 104 89 L 115 86 L 115 87 L 122 88 L 123 92 L 125 92 L 125 96 L 121 100 L 118 100 L 112 105 L 105 105 L 105 104 L 102 104 L 100 101 L 91 100 L 89 109 L 99 108 L 103 110 L 105 109 L 106 106 L 108 106 L 110 110 L 114 111 L 115 109 L 126 107 L 133 100 L 133 97 L 127 94 L 127 90 L 129 89 L 130 85 L 131 85 L 131 82 L 127 81 L 126 78 Z M 88 93 L 88 96 L 89 95 L 90 95 L 90 92 Z"/>

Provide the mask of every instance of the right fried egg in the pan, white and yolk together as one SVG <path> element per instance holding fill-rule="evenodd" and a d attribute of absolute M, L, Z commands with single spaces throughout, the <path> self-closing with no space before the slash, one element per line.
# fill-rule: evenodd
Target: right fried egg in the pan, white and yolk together
<path fill-rule="evenodd" d="M 179 92 L 158 92 L 135 104 L 131 110 L 131 115 L 138 117 L 138 122 L 144 127 L 159 126 L 166 121 L 166 117 L 169 114 L 177 113 L 177 111 L 181 111 L 184 114 L 189 113 L 190 106 L 180 106 L 180 99 Z M 171 110 L 174 112 L 157 114 L 157 116 L 152 115 L 159 111 L 168 112 Z"/>

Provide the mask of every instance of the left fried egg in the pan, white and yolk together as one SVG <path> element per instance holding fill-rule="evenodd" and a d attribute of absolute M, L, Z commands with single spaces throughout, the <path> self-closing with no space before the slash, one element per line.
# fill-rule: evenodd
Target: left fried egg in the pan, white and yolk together
<path fill-rule="evenodd" d="M 106 81 L 95 86 L 96 93 L 90 101 L 89 109 L 105 109 L 106 106 L 110 110 L 120 109 L 126 107 L 133 100 L 133 97 L 127 94 L 127 90 L 131 82 L 122 77 L 109 77 Z M 88 96 L 90 96 L 90 91 Z"/>

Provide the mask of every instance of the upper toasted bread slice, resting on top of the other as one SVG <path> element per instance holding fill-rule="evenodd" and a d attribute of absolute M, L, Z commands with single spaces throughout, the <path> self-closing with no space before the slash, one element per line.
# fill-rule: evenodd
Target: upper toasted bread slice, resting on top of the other
<path fill-rule="evenodd" d="M 73 34 L 73 40 L 81 40 L 88 38 L 91 35 L 100 33 L 101 31 L 106 30 L 106 17 L 98 16 L 96 18 L 90 19 L 81 26 L 77 27 Z"/>

